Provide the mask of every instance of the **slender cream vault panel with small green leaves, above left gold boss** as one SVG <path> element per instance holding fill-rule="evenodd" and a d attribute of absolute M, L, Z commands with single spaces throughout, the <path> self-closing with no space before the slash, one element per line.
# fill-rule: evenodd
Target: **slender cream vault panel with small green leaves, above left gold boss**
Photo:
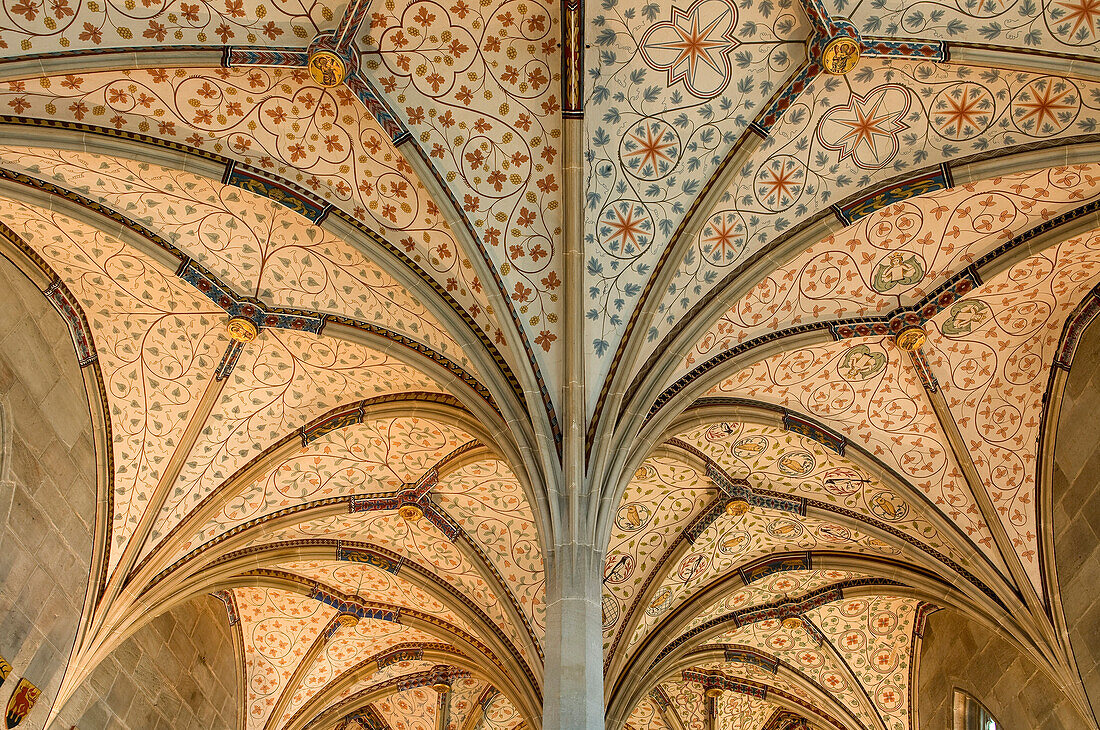
<path fill-rule="evenodd" d="M 124 211 L 237 294 L 350 317 L 407 335 L 471 368 L 453 338 L 352 244 L 255 193 L 147 163 L 0 147 L 0 164 Z"/>

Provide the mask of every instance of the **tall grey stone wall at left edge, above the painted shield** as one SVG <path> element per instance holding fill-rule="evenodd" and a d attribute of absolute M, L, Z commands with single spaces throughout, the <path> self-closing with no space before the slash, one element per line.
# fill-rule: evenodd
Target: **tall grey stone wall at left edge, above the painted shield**
<path fill-rule="evenodd" d="M 91 563 L 96 462 L 84 377 L 64 320 L 0 257 L 0 655 L 42 697 L 42 728 L 73 650 Z"/>

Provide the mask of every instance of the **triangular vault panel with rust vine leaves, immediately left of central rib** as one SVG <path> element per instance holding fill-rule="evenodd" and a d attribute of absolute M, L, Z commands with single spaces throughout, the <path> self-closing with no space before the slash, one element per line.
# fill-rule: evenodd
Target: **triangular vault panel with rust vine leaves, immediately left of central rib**
<path fill-rule="evenodd" d="M 367 74 L 473 224 L 549 383 L 561 350 L 558 14 L 544 0 L 400 0 L 375 5 L 360 38 Z"/>

